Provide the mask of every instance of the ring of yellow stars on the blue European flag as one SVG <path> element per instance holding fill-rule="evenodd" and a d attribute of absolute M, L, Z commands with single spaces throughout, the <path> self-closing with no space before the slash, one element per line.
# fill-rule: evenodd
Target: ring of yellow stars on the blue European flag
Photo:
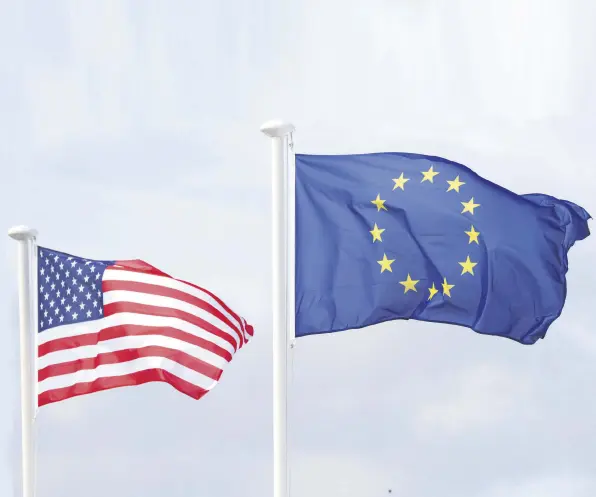
<path fill-rule="evenodd" d="M 441 174 L 440 171 L 434 170 L 434 166 L 430 166 L 428 171 L 420 171 L 420 173 L 422 174 L 422 179 L 420 180 L 420 183 L 424 183 L 424 182 L 428 181 L 429 183 L 433 183 L 433 184 L 435 183 L 436 176 Z M 411 179 L 412 178 L 406 178 L 404 176 L 404 173 L 402 172 L 398 178 L 393 178 L 393 183 L 394 183 L 393 190 L 394 191 L 395 190 L 405 191 L 406 183 L 408 181 L 410 181 Z M 448 185 L 447 189 L 445 190 L 446 192 L 454 191 L 456 193 L 460 193 L 460 188 L 466 184 L 465 181 L 461 181 L 459 175 L 456 176 L 454 179 L 451 179 L 451 180 L 448 179 L 446 181 L 447 181 L 447 185 Z M 377 208 L 377 212 L 387 211 L 385 202 L 386 202 L 386 200 L 381 199 L 381 194 L 378 194 L 377 198 L 375 198 L 374 200 L 371 200 L 371 203 Z M 463 206 L 461 214 L 469 213 L 472 216 L 475 214 L 475 212 L 474 212 L 475 209 L 477 209 L 478 207 L 481 206 L 481 204 L 476 203 L 476 201 L 474 200 L 474 197 L 471 197 L 470 200 L 468 200 L 467 202 L 461 202 L 461 205 Z M 372 235 L 372 242 L 373 243 L 376 243 L 376 242 L 382 243 L 384 232 L 385 232 L 385 228 L 380 228 L 377 225 L 377 223 L 375 223 L 373 226 L 373 229 L 369 231 L 369 233 Z M 475 243 L 476 245 L 480 244 L 478 241 L 480 232 L 476 230 L 476 228 L 474 227 L 473 224 L 470 225 L 470 229 L 468 231 L 464 231 L 464 234 L 468 236 L 468 244 L 472 244 L 472 243 Z M 381 273 L 384 273 L 385 271 L 392 273 L 393 269 L 392 269 L 391 265 L 394 262 L 395 262 L 395 259 L 389 259 L 387 257 L 386 253 L 383 253 L 383 258 L 380 261 L 377 261 L 377 263 L 380 266 Z M 470 259 L 470 255 L 468 255 L 466 257 L 465 261 L 458 262 L 458 264 L 461 266 L 461 276 L 463 276 L 465 274 L 470 274 L 470 275 L 474 276 L 474 268 L 478 265 L 477 262 L 473 262 Z M 404 293 L 408 293 L 410 291 L 417 292 L 418 288 L 416 288 L 416 285 L 418 283 L 420 283 L 420 280 L 413 279 L 412 276 L 410 275 L 410 273 L 407 273 L 406 279 L 403 281 L 400 281 L 399 283 L 400 283 L 400 285 L 403 285 Z M 428 288 L 428 299 L 427 300 L 429 300 L 429 301 L 432 300 L 433 297 L 441 291 L 442 291 L 443 296 L 451 297 L 451 290 L 453 288 L 455 288 L 455 284 L 449 283 L 447 281 L 447 278 L 444 277 L 443 282 L 438 283 L 438 285 L 442 288 L 441 289 L 437 288 L 437 286 L 435 285 L 435 282 L 433 282 L 432 286 L 430 288 Z"/>

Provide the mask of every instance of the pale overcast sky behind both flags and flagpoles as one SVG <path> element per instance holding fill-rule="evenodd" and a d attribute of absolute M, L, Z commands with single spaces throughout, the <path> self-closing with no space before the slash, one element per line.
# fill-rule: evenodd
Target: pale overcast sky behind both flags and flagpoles
<path fill-rule="evenodd" d="M 594 25 L 585 0 L 0 0 L 0 224 L 143 258 L 256 329 L 198 402 L 148 384 L 42 409 L 38 497 L 271 495 L 259 126 L 291 120 L 303 153 L 441 155 L 594 215 Z M 4 247 L 0 495 L 13 495 Z M 565 310 L 534 346 L 405 321 L 299 340 L 293 497 L 596 495 L 595 250 L 594 236 L 571 250 Z"/>

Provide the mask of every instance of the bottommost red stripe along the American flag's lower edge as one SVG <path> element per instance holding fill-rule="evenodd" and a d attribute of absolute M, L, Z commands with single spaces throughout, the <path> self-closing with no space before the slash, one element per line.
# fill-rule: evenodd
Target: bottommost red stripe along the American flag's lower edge
<path fill-rule="evenodd" d="M 163 369 L 148 369 L 146 371 L 139 371 L 125 376 L 108 376 L 98 378 L 91 382 L 77 383 L 70 387 L 48 390 L 47 392 L 39 394 L 38 405 L 41 407 L 52 402 L 59 402 L 78 395 L 100 392 L 111 388 L 142 385 L 151 381 L 163 381 L 169 383 L 179 392 L 196 400 L 200 399 L 208 392 L 208 390 L 205 390 L 204 388 L 193 385 L 182 378 L 178 378 L 169 371 L 164 371 Z"/>

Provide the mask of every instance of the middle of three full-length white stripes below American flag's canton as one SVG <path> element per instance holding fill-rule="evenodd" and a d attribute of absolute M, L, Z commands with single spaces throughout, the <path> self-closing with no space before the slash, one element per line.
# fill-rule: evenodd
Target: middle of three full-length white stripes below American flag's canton
<path fill-rule="evenodd" d="M 213 352 L 188 342 L 178 340 L 177 338 L 159 335 L 147 335 L 126 336 L 114 338 L 112 340 L 106 340 L 95 345 L 85 345 L 83 347 L 76 347 L 74 349 L 57 350 L 56 352 L 51 352 L 40 357 L 37 361 L 37 367 L 38 369 L 42 369 L 46 366 L 61 364 L 63 362 L 96 357 L 99 354 L 150 346 L 166 347 L 174 351 L 184 352 L 192 357 L 200 359 L 201 361 L 212 364 L 219 369 L 223 369 L 228 363 L 223 357 L 220 357 Z"/>

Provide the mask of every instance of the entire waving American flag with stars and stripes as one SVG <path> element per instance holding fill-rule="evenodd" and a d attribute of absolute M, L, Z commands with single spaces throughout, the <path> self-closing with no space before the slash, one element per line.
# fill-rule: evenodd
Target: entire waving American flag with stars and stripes
<path fill-rule="evenodd" d="M 38 405 L 150 381 L 199 399 L 253 328 L 213 293 L 141 260 L 37 253 Z"/>

